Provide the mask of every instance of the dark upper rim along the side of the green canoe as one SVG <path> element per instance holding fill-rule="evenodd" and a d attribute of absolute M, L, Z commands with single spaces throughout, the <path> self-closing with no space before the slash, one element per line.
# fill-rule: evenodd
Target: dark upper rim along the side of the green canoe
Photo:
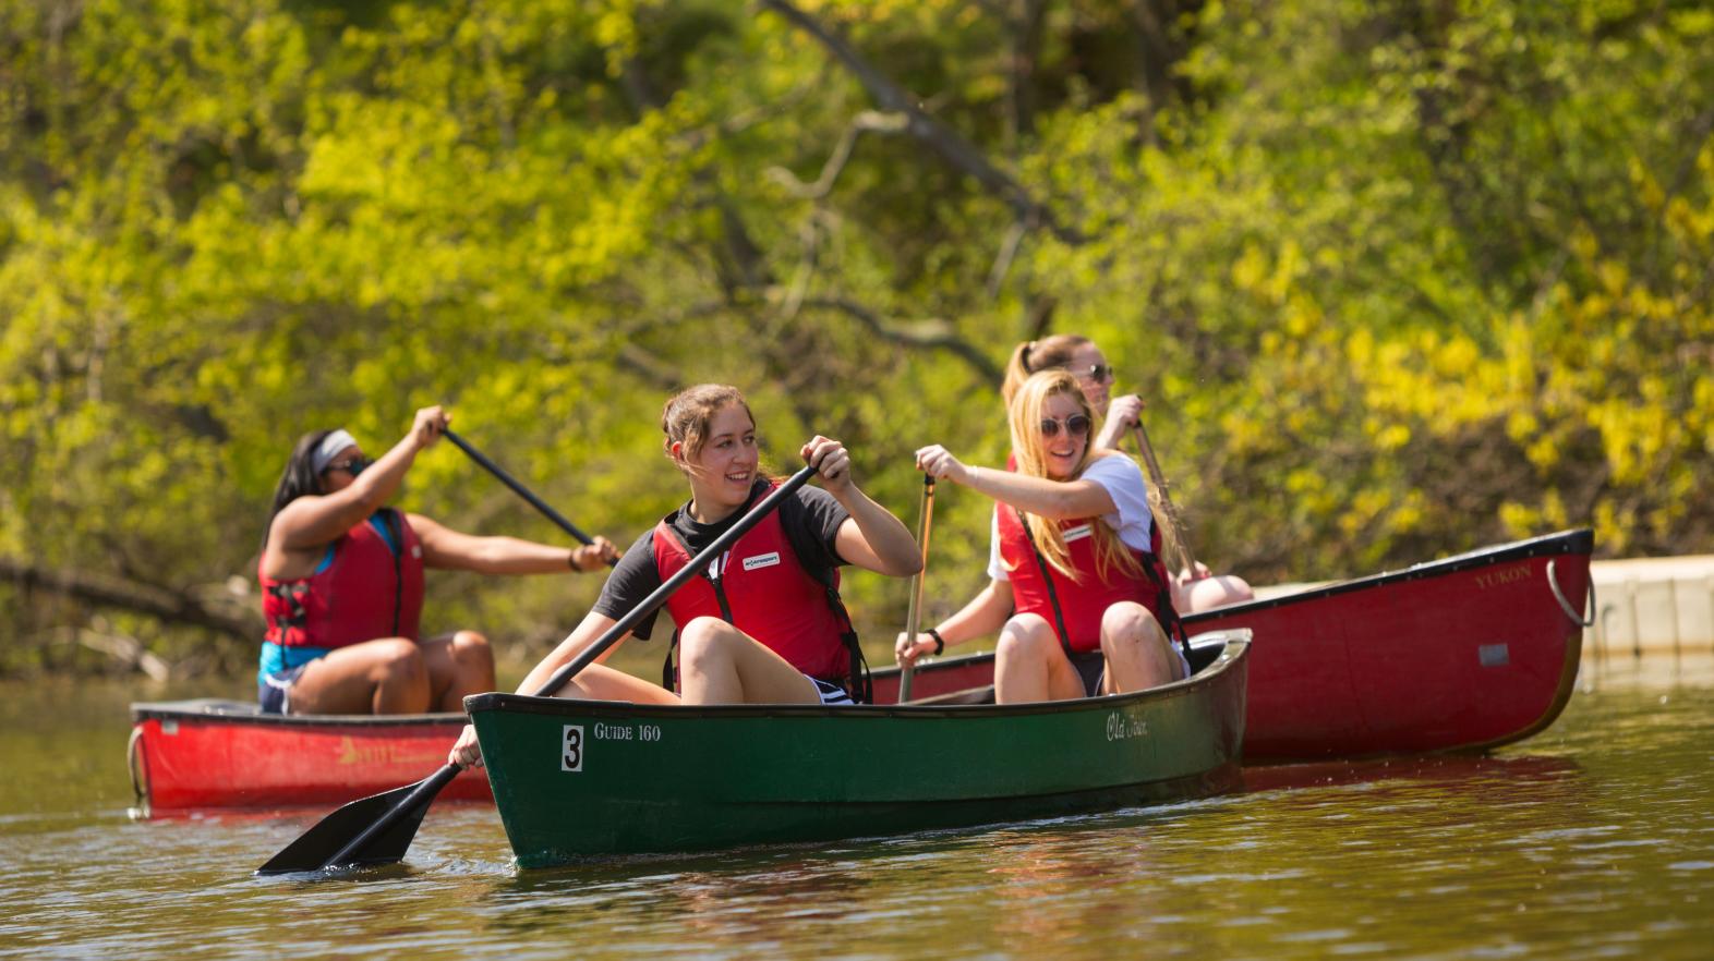
<path fill-rule="evenodd" d="M 1217 641 L 1224 636 L 1224 641 Z M 631 704 L 626 701 L 576 701 L 569 697 L 531 697 L 528 694 L 471 694 L 464 697 L 464 711 L 516 711 L 530 714 L 581 714 L 612 718 L 1023 718 L 1032 714 L 1061 714 L 1068 711 L 1111 711 L 1147 701 L 1172 701 L 1200 695 L 1205 689 L 1224 682 L 1224 675 L 1243 665 L 1250 653 L 1250 629 L 1231 627 L 1200 636 L 1203 644 L 1224 644 L 1214 663 L 1184 678 L 1135 690 L 1131 694 L 1102 694 L 1071 701 L 1035 701 L 1028 704 Z M 992 654 L 974 654 L 991 658 Z"/>

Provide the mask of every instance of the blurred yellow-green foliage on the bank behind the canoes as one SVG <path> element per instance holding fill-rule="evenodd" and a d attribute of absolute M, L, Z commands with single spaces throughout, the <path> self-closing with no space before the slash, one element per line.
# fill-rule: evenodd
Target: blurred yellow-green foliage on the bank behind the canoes
<path fill-rule="evenodd" d="M 1253 582 L 1579 524 L 1711 550 L 1704 5 L 799 9 L 1070 230 L 859 130 L 850 67 L 737 0 L 9 5 L 0 557 L 218 593 L 297 435 L 428 403 L 629 543 L 684 495 L 656 416 L 699 380 L 780 471 L 847 440 L 914 522 L 915 447 L 1003 461 L 991 375 L 1042 317 L 1148 399 L 1198 557 Z M 403 504 L 560 536 L 451 449 Z M 931 617 L 987 512 L 941 488 Z M 884 658 L 907 586 L 848 584 Z M 530 656 L 596 588 L 437 576 L 428 618 Z M 0 670 L 89 618 L 0 586 Z"/>

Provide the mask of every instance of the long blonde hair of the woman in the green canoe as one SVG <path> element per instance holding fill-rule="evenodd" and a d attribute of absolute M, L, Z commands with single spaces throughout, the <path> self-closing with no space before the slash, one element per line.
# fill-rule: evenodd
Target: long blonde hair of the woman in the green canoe
<path fill-rule="evenodd" d="M 1011 397 L 1011 406 L 1008 408 L 1008 420 L 1011 423 L 1011 452 L 1018 459 L 1020 475 L 1032 478 L 1047 476 L 1047 444 L 1042 440 L 1040 425 L 1046 418 L 1047 401 L 1059 394 L 1071 397 L 1071 401 L 1076 403 L 1078 413 L 1088 418 L 1090 432 L 1095 430 L 1095 413 L 1088 406 L 1088 397 L 1083 396 L 1083 389 L 1078 385 L 1076 377 L 1066 370 L 1044 370 L 1040 373 L 1032 373 L 1018 385 Z M 1083 476 L 1083 469 L 1088 468 L 1095 456 L 1095 439 L 1087 437 L 1083 442 L 1083 457 L 1078 459 L 1076 466 L 1071 469 L 1071 478 L 1068 480 Z M 1030 541 L 1035 543 L 1035 550 L 1042 552 L 1047 564 L 1066 577 L 1082 581 L 1082 576 L 1071 567 L 1071 550 L 1066 546 L 1066 538 L 1059 529 L 1059 522 L 1047 517 L 1037 517 L 1035 514 L 1025 514 L 1023 521 L 1028 528 Z M 1090 517 L 1090 534 L 1095 538 L 1095 576 L 1100 581 L 1107 581 L 1109 572 L 1114 567 L 1133 577 L 1143 576 L 1142 562 L 1138 562 L 1136 555 L 1131 553 L 1131 550 L 1124 546 L 1124 541 L 1119 540 L 1119 531 L 1107 526 L 1100 521 L 1100 517 Z"/>

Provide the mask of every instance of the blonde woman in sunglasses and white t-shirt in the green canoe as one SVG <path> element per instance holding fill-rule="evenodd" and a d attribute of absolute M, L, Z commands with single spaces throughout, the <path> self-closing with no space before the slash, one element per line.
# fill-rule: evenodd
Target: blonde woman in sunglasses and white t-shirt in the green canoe
<path fill-rule="evenodd" d="M 900 663 L 998 629 L 1003 704 L 1188 677 L 1169 637 L 1178 615 L 1136 463 L 1090 444 L 1094 409 L 1064 370 L 1018 384 L 1008 413 L 1015 471 L 967 466 L 938 444 L 917 451 L 926 473 L 994 498 L 992 546 L 987 588 L 938 627 L 900 636 Z"/>

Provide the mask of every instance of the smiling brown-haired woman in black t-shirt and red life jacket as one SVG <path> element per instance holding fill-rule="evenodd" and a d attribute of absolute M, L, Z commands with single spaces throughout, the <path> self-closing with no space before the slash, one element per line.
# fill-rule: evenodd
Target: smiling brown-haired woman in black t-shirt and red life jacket
<path fill-rule="evenodd" d="M 595 608 L 518 687 L 538 690 L 562 665 L 735 524 L 776 483 L 761 473 L 756 420 L 737 387 L 703 384 L 675 394 L 662 411 L 665 454 L 691 498 L 631 545 Z M 867 699 L 867 672 L 838 594 L 838 567 L 852 564 L 891 577 L 922 567 L 917 541 L 852 476 L 838 440 L 816 435 L 799 454 L 821 490 L 799 488 L 728 552 L 667 600 L 677 630 L 665 685 L 590 665 L 559 697 L 646 704 L 850 704 Z M 655 617 L 620 637 L 648 637 Z M 672 692 L 677 687 L 677 695 Z M 475 728 L 447 757 L 482 764 Z"/>

